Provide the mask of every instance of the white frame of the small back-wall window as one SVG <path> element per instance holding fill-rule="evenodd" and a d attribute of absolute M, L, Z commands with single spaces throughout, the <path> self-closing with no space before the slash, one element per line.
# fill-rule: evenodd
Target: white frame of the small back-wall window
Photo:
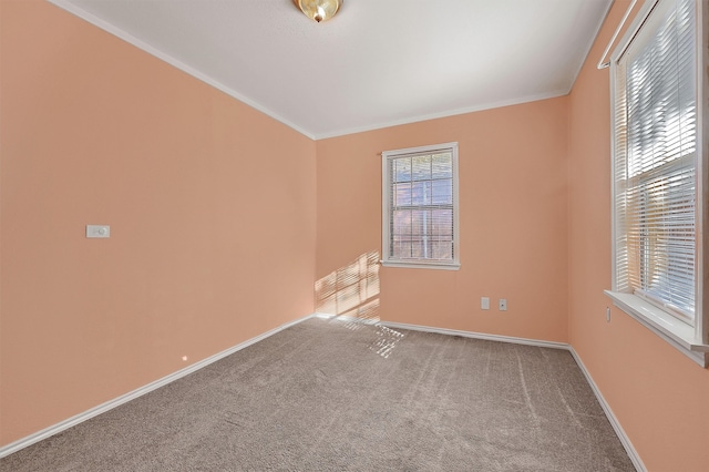
<path fill-rule="evenodd" d="M 397 157 L 405 155 L 432 154 L 436 152 L 451 152 L 452 155 L 452 183 L 453 183 L 453 257 L 449 260 L 438 259 L 393 259 L 389 254 L 391 244 L 390 218 L 391 218 L 391 175 L 389 162 Z M 427 268 L 427 269 L 444 269 L 458 270 L 460 264 L 460 230 L 459 230 L 459 198 L 458 198 L 458 143 L 443 143 L 430 146 L 408 147 L 403 150 L 384 151 L 381 154 L 381 175 L 382 175 L 382 260 L 384 267 L 404 267 L 404 268 Z"/>

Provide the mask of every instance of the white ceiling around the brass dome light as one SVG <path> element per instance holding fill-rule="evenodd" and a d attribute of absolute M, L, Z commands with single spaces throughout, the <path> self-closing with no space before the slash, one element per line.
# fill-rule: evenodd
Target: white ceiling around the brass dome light
<path fill-rule="evenodd" d="M 49 0 L 322 138 L 564 95 L 613 0 Z"/>

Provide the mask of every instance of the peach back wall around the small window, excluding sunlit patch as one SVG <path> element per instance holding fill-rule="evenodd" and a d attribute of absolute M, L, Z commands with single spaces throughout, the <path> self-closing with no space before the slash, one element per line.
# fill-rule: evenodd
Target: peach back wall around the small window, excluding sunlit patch
<path fill-rule="evenodd" d="M 456 141 L 462 267 L 380 268 L 379 317 L 566 342 L 566 132 L 561 98 L 318 141 L 318 279 L 381 250 L 380 153 Z"/>

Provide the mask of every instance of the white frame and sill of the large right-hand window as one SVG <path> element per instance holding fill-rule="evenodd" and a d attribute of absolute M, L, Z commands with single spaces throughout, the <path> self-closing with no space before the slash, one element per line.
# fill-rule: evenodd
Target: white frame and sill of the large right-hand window
<path fill-rule="evenodd" d="M 612 116 L 610 122 L 613 124 L 612 133 L 612 147 L 613 147 L 613 161 L 612 170 L 615 172 L 616 162 L 616 66 L 621 59 L 625 51 L 629 48 L 633 40 L 637 35 L 638 31 L 645 24 L 645 20 L 654 11 L 654 9 L 661 2 L 669 0 L 647 0 L 643 6 L 643 9 L 638 12 L 634 23 L 628 28 L 623 40 L 618 43 L 610 60 L 610 104 Z M 613 212 L 613 290 L 606 290 L 606 295 L 612 298 L 615 306 L 630 315 L 638 320 L 645 327 L 649 328 L 653 332 L 669 342 L 680 352 L 692 359 L 701 367 L 707 367 L 709 361 L 709 316 L 707 308 L 709 304 L 703 304 L 703 294 L 709 294 L 708 280 L 705 279 L 703 268 L 709 267 L 709 250 L 706 250 L 707 239 L 703 237 L 707 229 L 709 229 L 709 212 L 707 208 L 707 198 L 709 197 L 709 178 L 707 176 L 707 156 L 709 156 L 709 140 L 708 132 L 705 129 L 703 116 L 706 107 L 703 100 L 708 91 L 708 82 L 705 78 L 702 64 L 709 64 L 708 51 L 703 44 L 707 44 L 708 29 L 702 27 L 703 18 L 707 14 L 705 2 L 696 1 L 697 8 L 697 38 L 696 47 L 699 51 L 699 64 L 697 68 L 697 198 L 696 198 L 696 269 L 695 269 L 695 320 L 693 326 L 682 321 L 677 316 L 674 316 L 668 309 L 662 309 L 658 305 L 655 305 L 647 299 L 644 299 L 631 293 L 623 293 L 618 289 L 617 277 L 617 252 L 616 247 L 616 229 L 619 223 L 616 215 L 616 189 L 615 189 L 615 174 L 612 176 L 612 212 Z"/>

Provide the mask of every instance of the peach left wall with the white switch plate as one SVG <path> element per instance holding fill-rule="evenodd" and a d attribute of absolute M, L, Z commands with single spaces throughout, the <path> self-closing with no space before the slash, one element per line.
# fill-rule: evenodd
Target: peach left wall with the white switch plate
<path fill-rule="evenodd" d="M 44 1 L 0 18 L 0 444 L 312 312 L 314 141 Z"/>

